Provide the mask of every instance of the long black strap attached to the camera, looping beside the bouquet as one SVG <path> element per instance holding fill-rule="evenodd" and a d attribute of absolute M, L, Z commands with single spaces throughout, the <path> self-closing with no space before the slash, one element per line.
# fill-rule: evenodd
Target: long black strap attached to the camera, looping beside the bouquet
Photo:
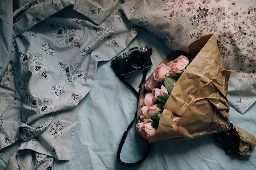
<path fill-rule="evenodd" d="M 115 72 L 116 76 L 117 76 L 124 84 L 126 84 L 126 85 L 132 90 L 132 92 L 134 93 L 134 95 L 137 97 L 137 99 L 138 99 L 137 103 L 138 103 L 138 102 L 139 102 L 139 96 L 140 96 L 141 85 L 142 85 L 142 84 L 145 82 L 145 80 L 146 80 L 147 68 L 144 68 L 144 69 L 143 69 L 143 77 L 142 77 L 141 83 L 140 83 L 140 85 L 139 85 L 139 88 L 140 88 L 140 89 L 139 89 L 139 92 L 137 92 L 136 89 L 134 89 L 134 88 L 132 87 L 132 85 L 130 85 L 127 81 L 125 81 L 124 78 L 117 72 L 117 70 L 116 70 L 116 65 L 115 65 L 114 60 L 111 61 L 111 65 L 112 65 L 112 67 L 113 67 L 113 69 L 114 69 L 114 72 Z M 135 115 L 134 115 L 133 120 L 130 122 L 130 124 L 128 125 L 126 131 L 124 132 L 124 134 L 123 134 L 123 136 L 122 136 L 122 139 L 121 139 L 121 141 L 120 141 L 120 143 L 119 143 L 118 150 L 117 150 L 117 160 L 118 160 L 118 162 L 119 162 L 120 164 L 125 165 L 125 166 L 136 166 L 136 165 L 139 165 L 140 163 L 142 163 L 142 162 L 147 158 L 148 154 L 150 153 L 150 143 L 147 143 L 147 144 L 146 144 L 147 148 L 146 148 L 146 152 L 145 152 L 144 156 L 143 156 L 140 160 L 138 160 L 137 162 L 134 162 L 134 163 L 125 163 L 125 162 L 123 162 L 123 161 L 121 160 L 121 158 L 120 158 L 120 154 L 121 154 L 123 145 L 124 145 L 124 143 L 125 143 L 125 139 L 126 139 L 126 137 L 127 137 L 128 131 L 131 129 L 131 127 L 132 127 L 132 125 L 133 125 L 133 123 L 134 123 L 134 120 L 137 120 L 137 111 L 135 112 Z"/>

